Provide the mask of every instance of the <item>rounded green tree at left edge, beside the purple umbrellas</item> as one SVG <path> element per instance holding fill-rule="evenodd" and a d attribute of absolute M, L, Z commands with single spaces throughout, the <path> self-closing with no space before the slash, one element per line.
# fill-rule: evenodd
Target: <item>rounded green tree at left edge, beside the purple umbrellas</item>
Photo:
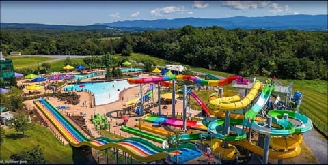
<path fill-rule="evenodd" d="M 1 94 L 1 106 L 8 108 L 9 110 L 16 111 L 23 108 L 22 90 L 12 87 L 10 91 L 5 94 Z"/>

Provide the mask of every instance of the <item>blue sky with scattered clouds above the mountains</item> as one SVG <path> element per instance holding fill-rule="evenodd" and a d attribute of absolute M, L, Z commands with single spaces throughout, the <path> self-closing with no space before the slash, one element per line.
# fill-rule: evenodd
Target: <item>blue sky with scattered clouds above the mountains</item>
<path fill-rule="evenodd" d="M 0 1 L 1 23 L 92 25 L 123 20 L 327 15 L 327 1 Z"/>

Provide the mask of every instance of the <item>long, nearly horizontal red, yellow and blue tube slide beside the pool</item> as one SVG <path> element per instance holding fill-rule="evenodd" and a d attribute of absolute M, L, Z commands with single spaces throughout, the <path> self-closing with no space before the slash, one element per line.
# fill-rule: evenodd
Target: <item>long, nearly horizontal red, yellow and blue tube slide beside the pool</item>
<path fill-rule="evenodd" d="M 169 81 L 169 80 L 188 80 L 191 82 L 195 82 L 197 85 L 225 86 L 225 85 L 230 85 L 237 78 L 238 76 L 230 76 L 223 80 L 204 80 L 201 78 L 197 78 L 195 76 L 178 75 L 178 76 L 163 76 L 163 77 L 154 77 L 154 78 L 141 78 L 141 77 L 128 78 L 128 83 L 146 84 L 146 83 L 157 83 L 157 82 Z"/>

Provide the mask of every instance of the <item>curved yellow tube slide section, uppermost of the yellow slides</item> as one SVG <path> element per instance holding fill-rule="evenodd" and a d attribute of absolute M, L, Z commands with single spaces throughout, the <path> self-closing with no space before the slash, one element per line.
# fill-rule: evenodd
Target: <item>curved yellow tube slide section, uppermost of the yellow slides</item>
<path fill-rule="evenodd" d="M 239 102 L 217 102 L 215 100 L 210 100 L 209 107 L 212 110 L 238 110 L 245 108 L 248 106 L 256 97 L 256 94 L 262 89 L 262 82 L 255 82 L 254 85 L 251 87 L 249 93 L 246 95 L 243 100 Z M 230 98 L 231 99 L 231 98 Z"/>

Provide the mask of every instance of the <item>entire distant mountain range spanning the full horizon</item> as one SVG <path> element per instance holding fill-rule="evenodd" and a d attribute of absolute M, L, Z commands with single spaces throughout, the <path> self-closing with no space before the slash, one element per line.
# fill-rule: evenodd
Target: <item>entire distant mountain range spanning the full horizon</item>
<path fill-rule="evenodd" d="M 305 31 L 327 30 L 327 15 L 289 15 L 230 18 L 177 18 L 159 20 L 126 20 L 113 23 L 96 23 L 86 26 L 72 25 L 44 25 L 35 23 L 0 23 L 1 28 L 27 28 L 27 29 L 72 29 L 87 30 L 100 29 L 107 31 L 143 31 L 149 29 L 179 28 L 185 25 L 194 27 L 210 27 L 217 25 L 225 29 L 299 29 Z"/>

